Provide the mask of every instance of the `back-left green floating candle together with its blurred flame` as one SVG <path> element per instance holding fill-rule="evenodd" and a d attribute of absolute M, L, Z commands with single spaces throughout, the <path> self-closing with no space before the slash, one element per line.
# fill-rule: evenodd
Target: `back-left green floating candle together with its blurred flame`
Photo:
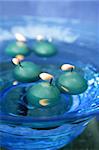
<path fill-rule="evenodd" d="M 20 33 L 16 33 L 15 37 L 17 41 L 7 46 L 5 50 L 6 53 L 12 57 L 15 57 L 16 55 L 24 55 L 24 56 L 28 55 L 30 51 L 25 43 L 26 42 L 25 37 Z"/>

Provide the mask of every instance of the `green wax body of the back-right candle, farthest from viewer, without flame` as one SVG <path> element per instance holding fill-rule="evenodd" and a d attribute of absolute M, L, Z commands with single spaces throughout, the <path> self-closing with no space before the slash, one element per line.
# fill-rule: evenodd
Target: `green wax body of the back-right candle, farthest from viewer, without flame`
<path fill-rule="evenodd" d="M 50 57 L 56 54 L 55 46 L 48 41 L 38 41 L 34 45 L 35 54 L 42 57 Z"/>

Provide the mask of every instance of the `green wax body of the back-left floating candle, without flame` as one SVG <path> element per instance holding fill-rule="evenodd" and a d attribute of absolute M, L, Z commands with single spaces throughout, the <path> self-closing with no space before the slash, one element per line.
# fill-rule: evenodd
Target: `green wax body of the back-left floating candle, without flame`
<path fill-rule="evenodd" d="M 7 46 L 6 53 L 9 56 L 15 57 L 16 55 L 28 55 L 30 53 L 26 43 L 24 42 L 14 42 Z"/>

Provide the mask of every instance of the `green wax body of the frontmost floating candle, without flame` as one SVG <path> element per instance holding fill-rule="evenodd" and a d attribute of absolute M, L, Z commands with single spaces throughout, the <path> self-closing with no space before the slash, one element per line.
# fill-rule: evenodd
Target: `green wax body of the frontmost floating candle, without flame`
<path fill-rule="evenodd" d="M 36 107 L 51 107 L 60 100 L 60 91 L 48 82 L 40 82 L 32 86 L 27 92 L 30 105 Z"/>

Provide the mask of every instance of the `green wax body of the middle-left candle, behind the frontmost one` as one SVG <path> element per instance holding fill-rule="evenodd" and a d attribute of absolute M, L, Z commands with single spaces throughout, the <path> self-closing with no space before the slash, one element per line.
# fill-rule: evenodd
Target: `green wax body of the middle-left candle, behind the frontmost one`
<path fill-rule="evenodd" d="M 39 78 L 41 68 L 28 61 L 21 62 L 21 66 L 17 65 L 14 69 L 14 77 L 20 82 L 32 82 Z"/>

